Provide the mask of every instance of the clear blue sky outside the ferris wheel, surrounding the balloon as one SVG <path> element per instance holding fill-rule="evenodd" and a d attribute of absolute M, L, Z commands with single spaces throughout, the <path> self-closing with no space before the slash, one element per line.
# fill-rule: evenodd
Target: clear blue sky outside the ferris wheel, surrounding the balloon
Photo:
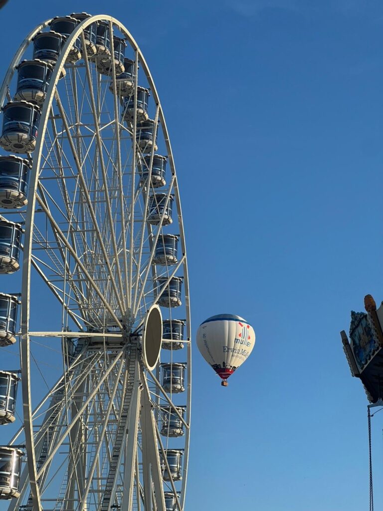
<path fill-rule="evenodd" d="M 0 74 L 39 21 L 82 10 L 128 27 L 159 91 L 194 336 L 224 312 L 257 336 L 228 388 L 194 350 L 186 511 L 367 509 L 367 398 L 339 332 L 383 298 L 383 3 L 9 0 Z"/>

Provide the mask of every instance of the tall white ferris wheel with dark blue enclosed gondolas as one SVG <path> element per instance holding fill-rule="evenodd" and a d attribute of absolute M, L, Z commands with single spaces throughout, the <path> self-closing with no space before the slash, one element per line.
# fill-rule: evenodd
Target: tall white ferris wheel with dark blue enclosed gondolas
<path fill-rule="evenodd" d="M 0 105 L 0 505 L 183 511 L 186 248 L 148 65 L 117 19 L 56 17 Z"/>

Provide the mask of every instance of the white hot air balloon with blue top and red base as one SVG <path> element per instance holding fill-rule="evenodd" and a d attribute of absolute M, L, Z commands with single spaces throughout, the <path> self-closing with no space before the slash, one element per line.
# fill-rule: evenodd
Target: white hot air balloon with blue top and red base
<path fill-rule="evenodd" d="M 221 385 L 240 367 L 253 350 L 255 333 L 240 316 L 218 314 L 200 324 L 197 346 L 208 364 L 222 378 Z"/>

